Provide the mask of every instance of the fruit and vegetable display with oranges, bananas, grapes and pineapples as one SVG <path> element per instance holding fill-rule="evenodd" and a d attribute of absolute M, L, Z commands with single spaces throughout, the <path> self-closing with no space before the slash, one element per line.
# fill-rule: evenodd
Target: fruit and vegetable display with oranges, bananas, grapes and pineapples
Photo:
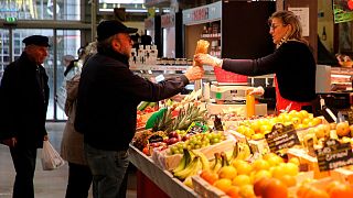
<path fill-rule="evenodd" d="M 190 98 L 156 109 L 132 142 L 185 188 L 201 197 L 353 197 L 347 121 L 328 123 L 304 110 L 247 119 L 227 113 L 217 116 L 224 128 L 216 129 L 214 116 Z"/>

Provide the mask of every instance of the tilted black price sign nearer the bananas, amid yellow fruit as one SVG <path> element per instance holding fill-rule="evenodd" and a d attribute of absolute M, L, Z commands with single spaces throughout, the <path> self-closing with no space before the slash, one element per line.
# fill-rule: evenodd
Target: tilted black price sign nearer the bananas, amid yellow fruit
<path fill-rule="evenodd" d="M 274 125 L 270 133 L 265 134 L 267 144 L 272 153 L 300 144 L 297 132 L 292 124 L 284 125 L 277 123 Z"/>

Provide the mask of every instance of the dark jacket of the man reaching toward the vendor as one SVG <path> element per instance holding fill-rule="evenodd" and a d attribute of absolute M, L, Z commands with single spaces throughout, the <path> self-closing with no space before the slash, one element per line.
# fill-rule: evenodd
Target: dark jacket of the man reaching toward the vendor
<path fill-rule="evenodd" d="M 152 84 L 129 69 L 127 57 L 98 50 L 83 67 L 75 129 L 90 146 L 127 150 L 136 131 L 138 103 L 172 97 L 188 84 L 184 75 Z"/>

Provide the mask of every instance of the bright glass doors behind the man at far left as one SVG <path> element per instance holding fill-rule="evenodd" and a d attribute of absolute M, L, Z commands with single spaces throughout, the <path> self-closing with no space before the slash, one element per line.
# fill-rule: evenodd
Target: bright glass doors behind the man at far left
<path fill-rule="evenodd" d="M 66 116 L 55 100 L 56 92 L 63 85 L 64 79 L 64 65 L 63 57 L 65 55 L 72 55 L 77 58 L 77 50 L 81 46 L 81 32 L 78 30 L 57 30 L 56 42 L 53 42 L 53 30 L 45 29 L 14 29 L 12 34 L 12 55 L 13 59 L 21 56 L 24 44 L 22 40 L 30 35 L 45 35 L 50 38 L 51 47 L 49 48 L 49 56 L 44 62 L 46 74 L 49 76 L 50 86 L 50 102 L 47 108 L 47 120 L 65 120 Z M 11 62 L 10 59 L 10 43 L 9 31 L 0 30 L 0 80 L 3 74 L 3 69 Z M 54 64 L 54 46 L 56 46 L 56 64 Z M 54 80 L 56 80 L 54 82 Z M 55 88 L 56 87 L 56 88 Z"/>

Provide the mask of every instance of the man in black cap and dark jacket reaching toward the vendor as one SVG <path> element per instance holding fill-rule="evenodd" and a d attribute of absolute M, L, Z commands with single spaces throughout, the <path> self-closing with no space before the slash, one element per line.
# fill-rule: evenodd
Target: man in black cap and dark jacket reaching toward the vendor
<path fill-rule="evenodd" d="M 121 186 L 138 103 L 172 97 L 204 74 L 202 67 L 192 67 L 184 75 L 159 84 L 135 75 L 128 59 L 132 47 L 129 34 L 136 32 L 114 20 L 99 23 L 98 53 L 87 61 L 81 75 L 75 128 L 84 133 L 95 198 L 126 195 Z"/>

